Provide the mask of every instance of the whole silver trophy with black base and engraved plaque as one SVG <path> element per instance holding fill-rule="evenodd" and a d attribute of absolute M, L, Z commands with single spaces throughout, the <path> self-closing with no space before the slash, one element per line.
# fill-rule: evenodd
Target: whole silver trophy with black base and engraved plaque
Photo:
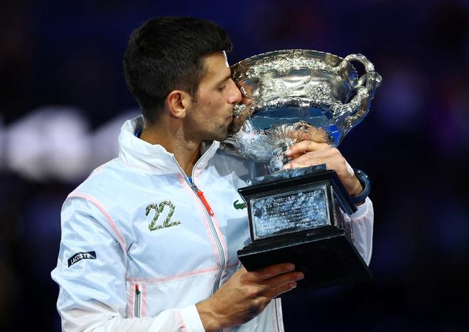
<path fill-rule="evenodd" d="M 354 61 L 365 67 L 360 77 Z M 232 65 L 232 78 L 243 100 L 222 149 L 269 170 L 239 189 L 251 232 L 241 262 L 248 270 L 293 262 L 305 273 L 297 289 L 369 278 L 344 217 L 356 206 L 335 172 L 283 168 L 289 146 L 304 139 L 338 146 L 362 121 L 382 80 L 372 63 L 360 54 L 278 50 Z"/>

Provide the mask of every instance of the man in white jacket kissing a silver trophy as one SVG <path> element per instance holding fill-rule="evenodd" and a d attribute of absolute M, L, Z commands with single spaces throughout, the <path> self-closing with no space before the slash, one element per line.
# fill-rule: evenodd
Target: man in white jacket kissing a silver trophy
<path fill-rule="evenodd" d="M 227 33 L 198 18 L 153 18 L 132 33 L 124 71 L 143 116 L 119 136 L 119 157 L 63 205 L 58 311 L 65 331 L 282 331 L 279 294 L 293 264 L 247 272 L 249 238 L 233 207 L 249 162 L 218 150 L 242 96 L 230 78 Z M 360 181 L 337 149 L 291 147 L 289 166 L 328 164 L 356 196 Z M 370 261 L 372 205 L 353 215 Z M 274 300 L 272 300 L 274 299 Z"/>

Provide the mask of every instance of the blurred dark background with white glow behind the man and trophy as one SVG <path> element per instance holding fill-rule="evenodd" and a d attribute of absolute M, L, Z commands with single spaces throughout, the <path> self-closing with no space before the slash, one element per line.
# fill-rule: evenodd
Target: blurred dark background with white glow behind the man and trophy
<path fill-rule="evenodd" d="M 340 146 L 372 181 L 374 278 L 286 299 L 286 331 L 469 331 L 469 2 L 431 0 L 2 1 L 0 329 L 60 331 L 60 207 L 138 114 L 122 55 L 158 15 L 224 26 L 231 63 L 362 53 L 383 77 Z"/>

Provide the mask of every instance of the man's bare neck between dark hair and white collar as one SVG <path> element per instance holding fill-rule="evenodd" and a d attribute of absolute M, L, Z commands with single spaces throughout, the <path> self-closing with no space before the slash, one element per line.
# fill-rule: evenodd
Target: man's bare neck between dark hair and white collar
<path fill-rule="evenodd" d="M 188 141 L 179 129 L 179 126 L 171 125 L 145 126 L 140 139 L 163 146 L 166 151 L 174 154 L 185 175 L 192 176 L 194 165 L 200 158 L 200 141 Z"/>

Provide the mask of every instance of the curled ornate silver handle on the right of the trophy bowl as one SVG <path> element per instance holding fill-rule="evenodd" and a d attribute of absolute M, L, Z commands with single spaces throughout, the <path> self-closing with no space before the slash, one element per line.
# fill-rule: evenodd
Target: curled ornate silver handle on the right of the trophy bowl
<path fill-rule="evenodd" d="M 365 67 L 365 74 L 360 78 L 352 80 L 352 87 L 357 89 L 357 95 L 341 108 L 341 113 L 351 114 L 343 121 L 344 135 L 359 124 L 370 111 L 370 103 L 374 97 L 374 91 L 382 82 L 381 76 L 374 71 L 374 65 L 362 54 L 347 55 L 338 65 L 340 70 L 345 69 L 347 64 L 357 61 Z M 344 112 L 345 111 L 345 112 Z"/>

